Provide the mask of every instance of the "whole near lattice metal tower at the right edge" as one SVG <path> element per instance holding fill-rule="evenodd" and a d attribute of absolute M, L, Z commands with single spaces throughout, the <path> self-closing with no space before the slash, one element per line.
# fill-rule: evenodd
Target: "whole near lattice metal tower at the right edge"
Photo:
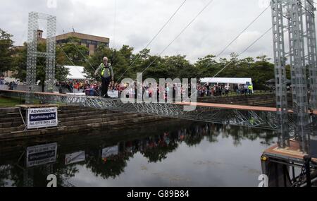
<path fill-rule="evenodd" d="M 313 122 L 309 116 L 316 109 L 316 28 L 315 8 L 312 0 L 272 0 L 273 47 L 275 61 L 276 102 L 278 108 L 279 145 L 290 145 L 290 124 L 287 118 L 286 56 L 290 56 L 292 77 L 292 99 L 294 111 L 294 133 L 301 142 L 303 152 L 308 152 L 310 135 L 309 125 Z M 285 43 L 285 29 L 289 42 Z M 285 51 L 285 45 L 290 52 Z M 307 54 L 305 52 L 307 51 Z M 309 82 L 306 76 L 309 66 Z M 310 85 L 308 85 L 310 83 Z M 308 97 L 310 90 L 310 100 Z"/>

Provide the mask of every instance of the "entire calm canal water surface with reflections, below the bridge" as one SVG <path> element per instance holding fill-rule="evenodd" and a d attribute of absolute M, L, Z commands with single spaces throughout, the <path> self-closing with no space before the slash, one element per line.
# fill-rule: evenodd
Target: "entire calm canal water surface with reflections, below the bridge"
<path fill-rule="evenodd" d="M 49 140 L 48 140 L 49 139 Z M 1 142 L 0 186 L 258 186 L 273 131 L 194 121 Z"/>

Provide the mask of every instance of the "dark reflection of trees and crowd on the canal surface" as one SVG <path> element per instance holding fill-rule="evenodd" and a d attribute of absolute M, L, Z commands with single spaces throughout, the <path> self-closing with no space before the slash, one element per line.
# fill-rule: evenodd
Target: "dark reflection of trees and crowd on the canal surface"
<path fill-rule="evenodd" d="M 167 128 L 166 128 L 167 127 Z M 130 128 L 130 127 L 129 127 Z M 195 147 L 207 140 L 211 145 L 218 139 L 232 138 L 232 147 L 241 146 L 244 140 L 261 140 L 266 145 L 274 143 L 273 130 L 240 128 L 236 126 L 222 126 L 212 123 L 196 123 L 190 121 L 159 122 L 151 126 L 154 132 L 149 132 L 147 126 L 126 129 L 124 136 L 112 135 L 123 132 L 118 130 L 92 130 L 87 133 L 74 135 L 58 135 L 37 140 L 37 144 L 57 142 L 56 161 L 38 166 L 25 166 L 25 147 L 34 145 L 33 140 L 20 140 L 10 145 L 0 147 L 0 186 L 10 178 L 13 185 L 17 186 L 45 186 L 46 176 L 56 174 L 58 185 L 72 186 L 68 181 L 80 171 L 80 166 L 85 166 L 96 176 L 104 179 L 115 179 L 125 172 L 129 160 L 142 154 L 150 164 L 163 162 L 168 154 L 177 152 L 180 145 L 185 144 Z M 215 132 L 217 131 L 217 132 Z M 115 148 L 113 154 L 104 156 L 102 150 Z M 224 147 L 225 148 L 225 147 Z M 85 159 L 72 164 L 66 162 L 70 153 L 84 152 Z"/>

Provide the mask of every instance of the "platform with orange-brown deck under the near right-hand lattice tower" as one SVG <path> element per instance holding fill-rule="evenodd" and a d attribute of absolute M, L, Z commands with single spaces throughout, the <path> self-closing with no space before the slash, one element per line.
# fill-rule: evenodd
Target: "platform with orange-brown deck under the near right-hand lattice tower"
<path fill-rule="evenodd" d="M 267 187 L 304 187 L 317 185 L 317 140 L 311 140 L 306 154 L 300 142 L 290 140 L 290 147 L 268 148 L 261 157 L 262 173 Z M 309 181 L 309 182 L 307 182 Z"/>

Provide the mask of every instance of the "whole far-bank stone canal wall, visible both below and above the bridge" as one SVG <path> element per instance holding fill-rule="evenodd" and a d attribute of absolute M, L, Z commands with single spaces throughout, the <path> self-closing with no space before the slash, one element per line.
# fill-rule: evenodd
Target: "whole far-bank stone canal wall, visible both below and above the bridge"
<path fill-rule="evenodd" d="M 235 97 L 202 97 L 197 102 L 242 105 L 274 105 L 275 95 L 251 95 Z M 128 114 L 77 106 L 61 106 L 58 109 L 58 128 L 25 130 L 18 108 L 0 108 L 0 140 L 31 138 L 39 135 L 60 135 L 97 128 L 120 128 L 123 126 L 163 121 L 167 118 L 143 114 Z"/>

